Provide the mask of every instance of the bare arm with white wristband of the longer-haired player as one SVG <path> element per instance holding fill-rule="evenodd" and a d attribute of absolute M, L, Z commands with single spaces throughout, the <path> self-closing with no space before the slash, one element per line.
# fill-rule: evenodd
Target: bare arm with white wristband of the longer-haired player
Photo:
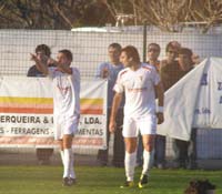
<path fill-rule="evenodd" d="M 161 124 L 164 121 L 164 115 L 163 115 L 164 90 L 162 82 L 159 82 L 159 84 L 155 85 L 155 91 L 158 95 L 158 110 L 157 110 L 158 124 Z"/>

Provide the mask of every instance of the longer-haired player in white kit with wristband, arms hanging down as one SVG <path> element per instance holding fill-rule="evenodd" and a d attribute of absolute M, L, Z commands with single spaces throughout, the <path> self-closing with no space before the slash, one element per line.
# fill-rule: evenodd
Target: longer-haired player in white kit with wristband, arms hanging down
<path fill-rule="evenodd" d="M 127 182 L 121 187 L 134 185 L 134 167 L 137 160 L 137 141 L 139 131 L 143 142 L 143 169 L 138 186 L 148 184 L 149 170 L 152 165 L 157 123 L 163 118 L 163 88 L 160 76 L 152 65 L 140 62 L 138 50 L 128 45 L 121 50 L 120 60 L 125 67 L 118 74 L 113 88 L 115 95 L 110 118 L 110 132 L 115 130 L 115 115 L 123 93 L 125 94 L 123 136 L 125 142 L 125 176 Z M 158 110 L 155 109 L 155 92 L 158 95 Z M 158 121 L 157 121 L 158 119 Z"/>

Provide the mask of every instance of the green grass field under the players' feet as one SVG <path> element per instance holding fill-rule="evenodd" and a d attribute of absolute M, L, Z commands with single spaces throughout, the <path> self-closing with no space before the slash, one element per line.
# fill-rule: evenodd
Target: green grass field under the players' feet
<path fill-rule="evenodd" d="M 209 178 L 222 194 L 222 171 L 151 170 L 143 190 L 119 188 L 123 169 L 78 166 L 75 172 L 77 185 L 64 187 L 61 166 L 0 166 L 0 194 L 182 194 L 192 178 Z"/>

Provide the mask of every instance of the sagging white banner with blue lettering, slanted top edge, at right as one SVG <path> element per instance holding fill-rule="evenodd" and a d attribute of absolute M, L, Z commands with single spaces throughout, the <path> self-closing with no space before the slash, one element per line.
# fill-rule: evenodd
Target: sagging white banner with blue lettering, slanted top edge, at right
<path fill-rule="evenodd" d="M 192 127 L 222 129 L 221 74 L 222 59 L 210 58 L 165 92 L 158 133 L 188 141 Z"/>

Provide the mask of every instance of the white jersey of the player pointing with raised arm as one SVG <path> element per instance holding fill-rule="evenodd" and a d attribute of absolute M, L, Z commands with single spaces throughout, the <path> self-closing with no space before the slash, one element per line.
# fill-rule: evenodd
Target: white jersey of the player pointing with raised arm
<path fill-rule="evenodd" d="M 53 114 L 70 119 L 80 114 L 80 73 L 72 68 L 72 74 L 63 73 L 57 68 L 49 68 L 53 80 Z"/>

